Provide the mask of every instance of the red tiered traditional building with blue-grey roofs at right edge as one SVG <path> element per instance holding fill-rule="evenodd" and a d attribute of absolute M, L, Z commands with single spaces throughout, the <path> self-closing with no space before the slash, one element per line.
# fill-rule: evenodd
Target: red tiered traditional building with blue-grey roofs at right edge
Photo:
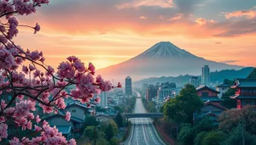
<path fill-rule="evenodd" d="M 256 105 L 256 79 L 236 79 L 231 88 L 236 89 L 236 94 L 230 98 L 236 99 L 237 109 Z"/>

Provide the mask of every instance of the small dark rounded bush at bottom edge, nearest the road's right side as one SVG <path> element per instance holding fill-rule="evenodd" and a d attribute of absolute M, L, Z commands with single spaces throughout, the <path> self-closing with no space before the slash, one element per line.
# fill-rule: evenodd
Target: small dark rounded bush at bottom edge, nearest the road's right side
<path fill-rule="evenodd" d="M 184 124 L 178 133 L 177 141 L 182 143 L 183 145 L 187 145 L 191 144 L 193 140 L 194 132 L 192 126 L 190 124 Z"/>

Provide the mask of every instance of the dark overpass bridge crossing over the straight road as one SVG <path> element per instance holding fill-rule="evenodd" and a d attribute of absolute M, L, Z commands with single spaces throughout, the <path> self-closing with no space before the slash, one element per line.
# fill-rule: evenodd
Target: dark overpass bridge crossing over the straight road
<path fill-rule="evenodd" d="M 109 117 L 115 118 L 117 114 L 108 114 Z M 153 119 L 158 119 L 158 118 L 163 118 L 164 114 L 161 113 L 132 113 L 132 114 L 122 114 L 125 116 L 125 118 L 130 119 L 130 118 L 153 118 Z"/>

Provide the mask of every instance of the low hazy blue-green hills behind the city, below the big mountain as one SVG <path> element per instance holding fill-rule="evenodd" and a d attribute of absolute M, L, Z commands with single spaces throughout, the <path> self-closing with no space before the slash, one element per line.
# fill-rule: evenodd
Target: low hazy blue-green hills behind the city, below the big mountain
<path fill-rule="evenodd" d="M 241 70 L 220 70 L 210 73 L 210 80 L 212 82 L 221 83 L 224 79 L 234 80 L 236 78 L 247 78 L 247 76 L 253 71 L 253 67 L 243 68 Z M 177 86 L 182 86 L 189 82 L 189 79 L 193 75 L 179 75 L 177 77 L 173 76 L 161 76 L 161 77 L 151 77 L 143 79 L 141 81 L 133 82 L 134 86 L 141 87 L 144 83 L 148 85 L 155 85 L 156 82 L 176 82 Z M 201 80 L 201 75 L 197 75 L 199 80 Z"/>

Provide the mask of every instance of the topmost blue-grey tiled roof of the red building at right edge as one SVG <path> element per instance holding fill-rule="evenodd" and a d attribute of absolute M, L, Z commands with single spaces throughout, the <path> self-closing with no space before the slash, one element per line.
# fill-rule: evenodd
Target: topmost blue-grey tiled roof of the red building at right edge
<path fill-rule="evenodd" d="M 256 79 L 236 79 L 234 86 L 231 87 L 256 87 Z"/>

